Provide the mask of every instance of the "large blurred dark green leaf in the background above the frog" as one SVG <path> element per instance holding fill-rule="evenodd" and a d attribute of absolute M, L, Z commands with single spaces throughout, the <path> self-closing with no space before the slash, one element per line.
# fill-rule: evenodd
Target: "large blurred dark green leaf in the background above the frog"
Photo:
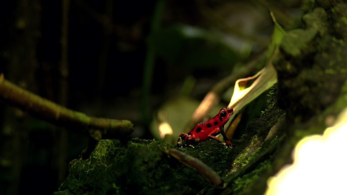
<path fill-rule="evenodd" d="M 239 53 L 221 35 L 190 25 L 172 25 L 161 29 L 148 41 L 159 57 L 180 67 L 232 67 L 239 57 Z"/>

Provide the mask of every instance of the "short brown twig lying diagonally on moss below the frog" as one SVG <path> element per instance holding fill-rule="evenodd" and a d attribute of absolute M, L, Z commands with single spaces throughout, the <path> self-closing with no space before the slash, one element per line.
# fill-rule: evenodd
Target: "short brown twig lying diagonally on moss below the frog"
<path fill-rule="evenodd" d="M 201 162 L 199 159 L 194 158 L 187 153 L 184 153 L 180 150 L 173 149 L 173 148 L 164 150 L 164 152 L 169 154 L 171 157 L 179 160 L 181 163 L 185 164 L 186 166 L 197 171 L 199 174 L 205 177 L 207 181 L 210 181 L 216 187 L 219 187 L 219 188 L 225 187 L 225 183 L 223 182 L 222 178 L 214 170 L 212 170 L 209 166 Z"/>

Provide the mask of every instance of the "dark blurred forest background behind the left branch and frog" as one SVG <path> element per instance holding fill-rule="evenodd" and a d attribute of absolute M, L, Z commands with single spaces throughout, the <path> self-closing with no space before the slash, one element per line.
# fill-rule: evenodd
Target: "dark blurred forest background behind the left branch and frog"
<path fill-rule="evenodd" d="M 68 108 L 130 120 L 131 136 L 141 138 L 153 138 L 152 114 L 180 94 L 187 78 L 194 80 L 188 96 L 199 101 L 234 64 L 266 49 L 273 29 L 268 10 L 288 27 L 300 5 L 70 0 L 66 10 L 63 2 L 0 3 L 0 72 Z M 88 145 L 87 135 L 32 118 L 2 101 L 0 127 L 0 194 L 52 193 L 66 176 L 68 162 Z"/>

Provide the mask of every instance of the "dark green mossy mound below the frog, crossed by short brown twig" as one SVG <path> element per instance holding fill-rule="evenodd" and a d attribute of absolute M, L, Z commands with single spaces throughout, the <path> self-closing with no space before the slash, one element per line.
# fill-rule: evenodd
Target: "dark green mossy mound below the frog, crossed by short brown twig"
<path fill-rule="evenodd" d="M 162 152 L 171 147 L 153 140 L 100 140 L 89 158 L 70 163 L 70 173 L 56 194 L 190 194 L 213 186 L 193 169 Z M 182 150 L 217 173 L 227 170 L 230 149 L 216 140 Z"/>

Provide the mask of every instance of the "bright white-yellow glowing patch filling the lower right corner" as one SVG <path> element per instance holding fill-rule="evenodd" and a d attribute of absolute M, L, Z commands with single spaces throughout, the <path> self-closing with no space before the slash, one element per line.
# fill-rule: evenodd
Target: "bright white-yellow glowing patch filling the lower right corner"
<path fill-rule="evenodd" d="M 347 194 L 347 109 L 323 136 L 302 139 L 294 163 L 268 180 L 266 195 Z"/>

